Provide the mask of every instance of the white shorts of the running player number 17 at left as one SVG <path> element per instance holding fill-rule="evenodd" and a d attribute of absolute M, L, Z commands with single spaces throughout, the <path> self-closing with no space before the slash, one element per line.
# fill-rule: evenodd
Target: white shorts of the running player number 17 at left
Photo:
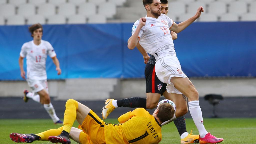
<path fill-rule="evenodd" d="M 47 80 L 27 80 L 28 86 L 33 90 L 34 93 L 45 89 L 49 93 Z"/>

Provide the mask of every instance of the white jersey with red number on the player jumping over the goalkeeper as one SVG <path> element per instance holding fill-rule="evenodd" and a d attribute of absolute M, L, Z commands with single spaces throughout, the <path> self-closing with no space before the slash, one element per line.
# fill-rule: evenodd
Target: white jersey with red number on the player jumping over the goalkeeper
<path fill-rule="evenodd" d="M 142 27 L 139 33 L 139 43 L 147 53 L 159 58 L 172 55 L 176 56 L 173 39 L 170 28 L 173 26 L 173 20 L 165 14 L 161 14 L 157 19 L 145 17 L 146 25 Z M 135 33 L 140 20 L 137 20 L 132 28 L 132 34 Z"/>

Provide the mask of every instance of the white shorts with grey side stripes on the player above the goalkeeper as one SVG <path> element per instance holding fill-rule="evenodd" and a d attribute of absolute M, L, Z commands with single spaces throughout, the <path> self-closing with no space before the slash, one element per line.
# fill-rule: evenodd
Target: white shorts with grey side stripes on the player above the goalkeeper
<path fill-rule="evenodd" d="M 166 90 L 168 93 L 182 94 L 174 87 L 173 83 L 171 83 L 172 77 L 187 78 L 176 56 L 166 56 L 158 59 L 155 65 L 155 71 L 158 79 L 167 84 Z"/>

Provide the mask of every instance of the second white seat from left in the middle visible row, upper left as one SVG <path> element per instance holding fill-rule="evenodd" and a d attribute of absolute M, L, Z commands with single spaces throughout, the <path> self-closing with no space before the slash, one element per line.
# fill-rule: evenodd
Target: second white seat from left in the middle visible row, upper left
<path fill-rule="evenodd" d="M 36 6 L 33 4 L 23 4 L 18 6 L 18 15 L 30 16 L 36 14 Z"/>

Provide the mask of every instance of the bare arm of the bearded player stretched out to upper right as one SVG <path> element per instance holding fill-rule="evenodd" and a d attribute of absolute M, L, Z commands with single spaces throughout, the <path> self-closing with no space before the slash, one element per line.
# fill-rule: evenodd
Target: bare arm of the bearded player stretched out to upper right
<path fill-rule="evenodd" d="M 200 6 L 197 9 L 197 13 L 196 13 L 195 16 L 189 18 L 188 20 L 186 20 L 186 21 L 184 21 L 182 23 L 179 23 L 179 24 L 174 23 L 173 27 L 170 30 L 175 32 L 175 33 L 181 32 L 182 30 L 187 28 L 190 24 L 192 24 L 196 19 L 198 19 L 201 16 L 202 12 L 204 12 L 204 8 Z"/>

